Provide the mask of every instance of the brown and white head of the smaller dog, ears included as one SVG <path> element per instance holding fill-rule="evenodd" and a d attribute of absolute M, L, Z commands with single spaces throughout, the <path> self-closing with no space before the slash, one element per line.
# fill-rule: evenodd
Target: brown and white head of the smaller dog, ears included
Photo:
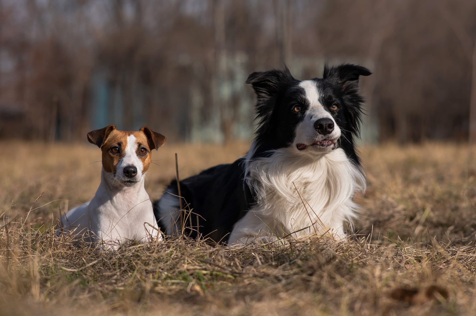
<path fill-rule="evenodd" d="M 145 126 L 139 131 L 123 131 L 110 125 L 89 132 L 88 140 L 102 150 L 105 177 L 113 177 L 114 184 L 134 186 L 149 169 L 151 149 L 159 149 L 165 137 Z"/>

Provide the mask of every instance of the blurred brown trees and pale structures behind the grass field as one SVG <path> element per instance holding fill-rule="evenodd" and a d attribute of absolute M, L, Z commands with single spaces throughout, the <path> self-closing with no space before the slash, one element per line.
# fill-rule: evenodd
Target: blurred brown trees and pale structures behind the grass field
<path fill-rule="evenodd" d="M 0 0 L 0 138 L 248 140 L 253 71 L 356 63 L 366 142 L 476 140 L 474 0 Z"/>

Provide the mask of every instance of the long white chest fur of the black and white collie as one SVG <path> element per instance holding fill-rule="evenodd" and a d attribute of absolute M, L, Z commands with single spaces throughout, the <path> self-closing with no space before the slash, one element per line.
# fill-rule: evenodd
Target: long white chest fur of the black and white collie
<path fill-rule="evenodd" d="M 320 156 L 278 149 L 248 161 L 245 172 L 257 204 L 235 224 L 230 244 L 326 232 L 345 238 L 344 222 L 358 210 L 352 199 L 365 190 L 362 172 L 342 149 Z"/>

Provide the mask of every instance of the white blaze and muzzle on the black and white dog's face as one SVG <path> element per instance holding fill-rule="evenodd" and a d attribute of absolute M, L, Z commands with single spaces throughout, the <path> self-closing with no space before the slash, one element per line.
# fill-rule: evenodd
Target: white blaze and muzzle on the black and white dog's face
<path fill-rule="evenodd" d="M 324 108 L 319 102 L 319 92 L 314 80 L 301 81 L 305 106 L 296 106 L 295 112 L 304 111 L 301 121 L 296 126 L 294 148 L 306 152 L 328 152 L 336 148 L 337 139 L 340 137 L 340 128 L 332 117 L 330 111 L 337 111 L 337 105 Z M 333 110 L 335 109 L 335 110 Z M 309 150 L 311 149 L 311 150 Z"/>

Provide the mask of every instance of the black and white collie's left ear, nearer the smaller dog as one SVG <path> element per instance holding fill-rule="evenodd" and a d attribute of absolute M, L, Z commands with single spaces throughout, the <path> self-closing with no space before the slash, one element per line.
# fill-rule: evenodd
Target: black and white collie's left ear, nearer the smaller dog
<path fill-rule="evenodd" d="M 286 66 L 283 70 L 273 69 L 250 74 L 246 83 L 251 84 L 253 90 L 255 90 L 258 117 L 262 117 L 272 111 L 274 107 L 272 100 L 286 85 L 295 80 Z"/>

